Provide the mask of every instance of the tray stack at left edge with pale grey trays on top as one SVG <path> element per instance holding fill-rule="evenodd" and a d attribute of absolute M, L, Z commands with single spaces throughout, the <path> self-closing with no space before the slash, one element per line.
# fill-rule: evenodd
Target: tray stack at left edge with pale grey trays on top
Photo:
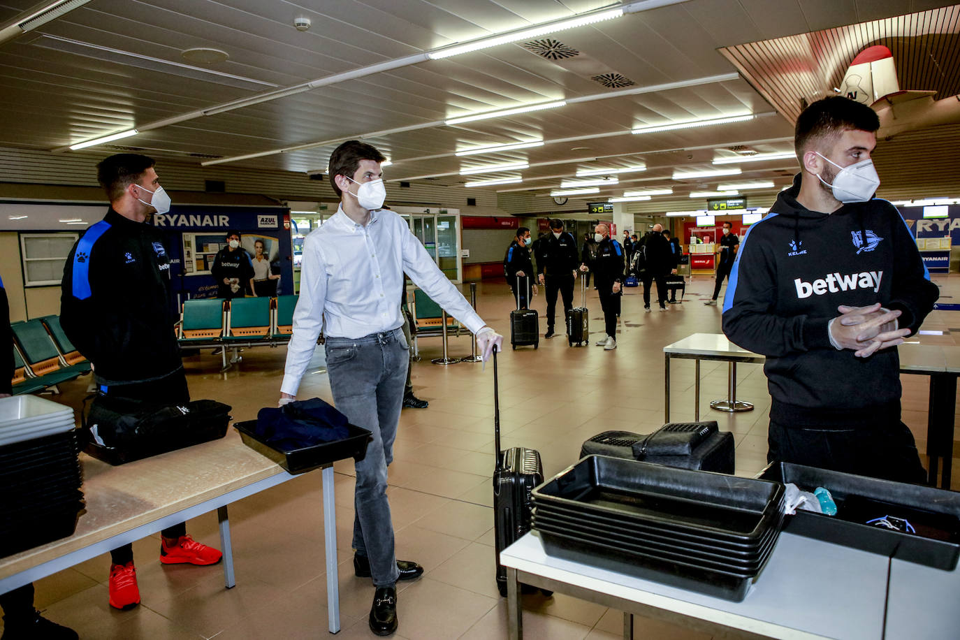
<path fill-rule="evenodd" d="M 73 411 L 34 396 L 0 403 L 0 415 L 20 414 L 0 418 L 0 557 L 6 557 L 73 534 L 84 494 Z M 44 415 L 43 403 L 58 409 Z"/>

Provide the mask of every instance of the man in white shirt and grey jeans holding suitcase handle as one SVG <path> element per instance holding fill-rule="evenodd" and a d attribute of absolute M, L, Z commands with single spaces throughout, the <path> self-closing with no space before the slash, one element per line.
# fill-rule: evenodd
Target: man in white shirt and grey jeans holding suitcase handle
<path fill-rule="evenodd" d="M 372 432 L 367 455 L 356 462 L 353 567 L 371 577 L 376 592 L 370 628 L 396 631 L 396 581 L 423 573 L 416 562 L 394 555 L 394 527 L 387 501 L 387 466 L 393 461 L 396 426 L 410 346 L 396 300 L 407 273 L 420 289 L 476 334 L 486 360 L 503 337 L 477 316 L 426 252 L 386 198 L 380 163 L 371 145 L 351 140 L 330 155 L 329 175 L 340 196 L 337 213 L 303 243 L 300 300 L 287 347 L 280 403 L 291 401 L 326 321 L 326 367 L 337 409 L 351 424 Z"/>

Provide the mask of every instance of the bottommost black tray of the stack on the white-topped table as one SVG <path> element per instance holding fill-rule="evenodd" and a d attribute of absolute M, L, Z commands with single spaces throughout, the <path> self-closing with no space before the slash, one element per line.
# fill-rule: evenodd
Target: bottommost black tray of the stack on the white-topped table
<path fill-rule="evenodd" d="M 751 583 L 756 580 L 756 577 L 740 578 L 626 551 L 618 553 L 605 551 L 562 533 L 538 532 L 537 534 L 540 535 L 548 556 L 589 564 L 734 603 L 741 602 L 747 596 Z"/>

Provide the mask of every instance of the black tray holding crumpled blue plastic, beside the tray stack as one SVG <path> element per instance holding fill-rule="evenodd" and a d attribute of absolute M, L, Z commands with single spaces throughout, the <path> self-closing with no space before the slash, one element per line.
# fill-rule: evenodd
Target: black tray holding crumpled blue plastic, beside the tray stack
<path fill-rule="evenodd" d="M 851 473 L 828 471 L 789 462 L 770 464 L 760 472 L 760 477 L 765 480 L 793 483 L 809 491 L 817 486 L 824 486 L 833 496 L 833 501 L 837 505 L 835 516 L 797 510 L 796 515 L 786 516 L 784 531 L 945 571 L 953 571 L 957 566 L 960 543 L 956 541 L 900 533 L 861 522 L 850 522 L 844 518 L 846 503 L 851 498 L 868 498 L 894 507 L 905 507 L 907 510 L 921 510 L 960 518 L 960 493 L 931 486 L 908 485 L 856 476 Z M 889 515 L 896 515 L 896 513 Z"/>

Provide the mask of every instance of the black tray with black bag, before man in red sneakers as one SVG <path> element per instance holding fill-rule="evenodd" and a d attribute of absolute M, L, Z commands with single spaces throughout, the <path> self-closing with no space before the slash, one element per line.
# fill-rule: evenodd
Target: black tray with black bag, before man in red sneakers
<path fill-rule="evenodd" d="M 160 404 L 98 394 L 84 415 L 84 451 L 122 464 L 220 439 L 227 434 L 230 409 L 216 400 Z"/>

